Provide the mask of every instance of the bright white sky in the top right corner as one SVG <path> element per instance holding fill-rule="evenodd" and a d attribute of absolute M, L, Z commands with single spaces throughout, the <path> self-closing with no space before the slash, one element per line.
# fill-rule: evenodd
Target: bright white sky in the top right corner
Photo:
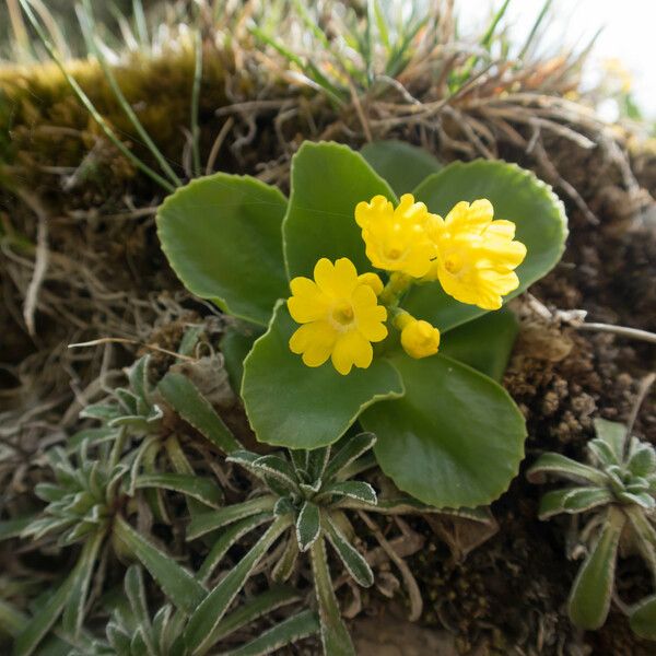
<path fill-rule="evenodd" d="M 528 36 L 543 2 L 511 0 L 506 15 L 518 43 Z M 462 28 L 471 24 L 484 30 L 490 8 L 501 4 L 502 0 L 457 0 Z M 601 74 L 605 59 L 620 59 L 633 75 L 639 107 L 656 119 L 656 0 L 554 0 L 551 14 L 553 20 L 543 39 L 547 47 L 586 44 L 604 26 L 589 60 L 588 80 Z"/>

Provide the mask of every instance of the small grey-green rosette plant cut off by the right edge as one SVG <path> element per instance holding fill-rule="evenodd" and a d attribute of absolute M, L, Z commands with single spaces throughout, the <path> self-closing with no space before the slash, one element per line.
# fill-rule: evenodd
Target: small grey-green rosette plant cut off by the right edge
<path fill-rule="evenodd" d="M 542 496 L 541 519 L 564 513 L 586 516 L 578 541 L 587 557 L 567 610 L 574 624 L 590 630 L 606 622 L 616 590 L 618 552 L 642 555 L 656 586 L 656 449 L 631 436 L 623 424 L 597 419 L 595 429 L 597 437 L 588 443 L 589 465 L 547 453 L 527 471 L 534 482 L 548 477 L 570 481 Z M 656 640 L 656 593 L 625 612 L 635 633 Z"/>

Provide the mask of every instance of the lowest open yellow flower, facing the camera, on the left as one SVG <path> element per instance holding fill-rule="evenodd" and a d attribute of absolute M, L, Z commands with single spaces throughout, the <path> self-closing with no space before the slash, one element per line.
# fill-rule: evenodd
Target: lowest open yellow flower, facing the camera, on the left
<path fill-rule="evenodd" d="M 307 366 L 320 366 L 330 358 L 342 375 L 353 365 L 370 366 L 371 342 L 387 337 L 387 309 L 378 305 L 375 292 L 383 289 L 377 276 L 359 277 L 345 257 L 335 265 L 321 258 L 315 266 L 314 280 L 294 278 L 290 288 L 288 308 L 292 318 L 303 324 L 290 339 L 293 353 L 302 355 Z"/>

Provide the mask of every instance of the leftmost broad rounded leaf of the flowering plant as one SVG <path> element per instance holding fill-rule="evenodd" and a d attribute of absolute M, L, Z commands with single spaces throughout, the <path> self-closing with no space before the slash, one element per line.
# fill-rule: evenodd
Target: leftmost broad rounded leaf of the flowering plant
<path fill-rule="evenodd" d="M 276 301 L 288 294 L 280 234 L 285 209 L 276 187 L 218 173 L 162 203 L 157 235 L 192 294 L 266 326 Z"/>

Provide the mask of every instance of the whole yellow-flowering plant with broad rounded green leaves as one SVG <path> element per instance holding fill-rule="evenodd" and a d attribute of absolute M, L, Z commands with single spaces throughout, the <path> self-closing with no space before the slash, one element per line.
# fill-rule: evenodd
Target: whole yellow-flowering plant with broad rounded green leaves
<path fill-rule="evenodd" d="M 223 350 L 260 442 L 313 449 L 358 421 L 382 469 L 425 503 L 473 507 L 507 488 L 526 432 L 497 384 L 516 333 L 502 303 L 566 236 L 562 203 L 531 173 L 442 168 L 395 142 L 362 154 L 305 142 L 289 200 L 216 174 L 166 199 L 157 227 L 186 286 L 258 337 Z"/>

